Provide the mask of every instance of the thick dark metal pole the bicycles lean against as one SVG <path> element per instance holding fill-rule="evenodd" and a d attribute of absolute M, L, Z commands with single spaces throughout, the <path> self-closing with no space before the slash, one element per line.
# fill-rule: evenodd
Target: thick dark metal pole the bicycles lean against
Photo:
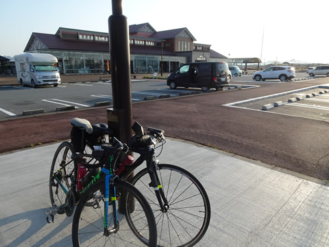
<path fill-rule="evenodd" d="M 113 108 L 108 109 L 108 126 L 114 136 L 127 143 L 132 138 L 132 89 L 130 47 L 127 18 L 122 14 L 122 1 L 112 0 L 112 15 L 108 18 Z M 127 178 L 129 181 L 134 174 Z M 123 193 L 121 197 L 124 198 Z M 119 211 L 125 205 L 119 200 Z M 130 204 L 134 207 L 134 204 Z"/>

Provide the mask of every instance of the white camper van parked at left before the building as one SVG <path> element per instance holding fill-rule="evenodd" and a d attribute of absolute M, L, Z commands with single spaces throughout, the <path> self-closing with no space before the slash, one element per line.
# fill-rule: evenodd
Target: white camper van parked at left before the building
<path fill-rule="evenodd" d="M 17 80 L 24 86 L 60 84 L 60 72 L 54 66 L 57 58 L 51 54 L 25 53 L 14 56 Z"/>

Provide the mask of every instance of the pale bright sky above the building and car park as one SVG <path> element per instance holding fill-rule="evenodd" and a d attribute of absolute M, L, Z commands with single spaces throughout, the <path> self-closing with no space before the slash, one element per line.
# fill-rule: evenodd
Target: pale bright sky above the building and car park
<path fill-rule="evenodd" d="M 114 1 L 114 0 L 112 0 Z M 108 0 L 0 1 L 0 56 L 22 54 L 32 32 L 59 27 L 108 32 Z M 195 43 L 228 58 L 329 64 L 327 0 L 122 0 L 128 25 L 186 27 Z"/>

